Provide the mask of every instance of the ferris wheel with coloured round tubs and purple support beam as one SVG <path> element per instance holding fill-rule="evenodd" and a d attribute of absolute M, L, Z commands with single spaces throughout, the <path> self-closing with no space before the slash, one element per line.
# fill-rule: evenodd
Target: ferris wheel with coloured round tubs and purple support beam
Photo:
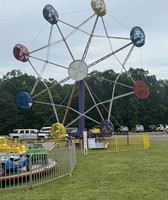
<path fill-rule="evenodd" d="M 76 122 L 78 122 L 79 133 L 83 133 L 86 126 L 86 119 L 93 121 L 95 124 L 98 124 L 100 126 L 101 133 L 104 136 L 112 135 L 114 132 L 114 126 L 111 119 L 114 100 L 133 94 L 140 99 L 145 99 L 149 95 L 149 89 L 146 83 L 143 80 L 134 80 L 130 74 L 128 76 L 131 79 L 132 85 L 125 85 L 118 81 L 121 74 L 123 72 L 127 72 L 126 63 L 130 58 L 134 48 L 140 48 L 145 44 L 144 31 L 139 26 L 135 26 L 131 29 L 129 37 L 127 38 L 121 36 L 112 36 L 111 33 L 108 32 L 106 22 L 104 20 L 104 16 L 107 14 L 106 4 L 104 0 L 91 0 L 91 8 L 93 10 L 93 14 L 89 16 L 86 20 L 84 20 L 82 23 L 80 23 L 78 26 L 75 26 L 62 21 L 59 18 L 59 14 L 56 11 L 56 9 L 52 5 L 46 5 L 43 8 L 43 17 L 50 24 L 50 31 L 47 43 L 44 46 L 41 46 L 38 49 L 32 51 L 29 51 L 28 48 L 22 44 L 16 44 L 13 48 L 14 57 L 21 62 L 29 63 L 29 65 L 32 67 L 37 76 L 36 82 L 32 86 L 31 92 L 21 91 L 20 93 L 18 93 L 16 96 L 16 103 L 19 107 L 23 109 L 29 109 L 34 103 L 43 103 L 36 101 L 36 97 L 48 93 L 50 99 L 48 105 L 52 106 L 56 121 L 56 123 L 54 123 L 52 126 L 52 132 L 53 135 L 55 135 L 55 138 L 61 138 L 60 136 L 65 133 L 64 126 L 72 126 L 73 123 Z M 88 23 L 92 24 L 90 31 L 85 30 Z M 102 30 L 104 31 L 104 34 L 96 35 L 95 31 L 100 23 L 102 25 Z M 61 24 L 70 27 L 71 31 L 64 34 L 64 30 L 62 30 L 60 26 Z M 53 34 L 55 33 L 54 31 L 57 32 L 57 35 L 60 36 L 60 39 L 53 42 Z M 84 44 L 84 50 L 82 52 L 81 58 L 76 58 L 74 56 L 74 53 L 71 49 L 71 45 L 74 43 L 71 44 L 69 42 L 69 39 L 73 35 L 77 35 L 78 33 L 82 33 L 87 37 L 87 41 Z M 106 39 L 106 41 L 108 41 L 109 50 L 107 52 L 104 51 L 104 49 L 102 49 L 102 52 L 106 52 L 105 55 L 98 55 L 97 57 L 96 55 L 94 55 L 94 58 L 92 60 L 89 60 L 88 57 L 91 52 L 90 49 L 92 48 L 92 42 L 95 38 L 97 40 L 101 40 L 102 38 Z M 125 41 L 125 43 L 124 45 L 120 45 L 119 47 L 113 47 L 112 40 L 122 40 Z M 67 61 L 69 62 L 68 64 L 60 64 L 56 61 L 50 60 L 50 52 L 52 47 L 60 43 L 64 44 L 64 49 L 69 54 L 70 59 L 69 61 Z M 46 50 L 45 58 L 34 56 L 36 52 L 40 53 L 44 49 Z M 126 50 L 127 53 L 125 55 L 124 61 L 120 61 L 117 58 L 117 54 L 121 51 Z M 109 93 L 111 94 L 111 97 L 109 99 L 104 99 L 103 101 L 100 101 L 98 100 L 98 98 L 95 98 L 94 93 L 90 89 L 90 86 L 87 84 L 86 79 L 87 77 L 97 78 L 96 76 L 94 76 L 94 74 L 91 73 L 93 67 L 103 63 L 105 60 L 111 57 L 114 57 L 120 64 L 120 72 L 114 80 L 110 80 L 113 83 L 113 86 L 109 87 Z M 40 69 L 40 71 L 33 64 L 33 60 L 43 63 L 43 67 L 42 69 Z M 48 69 L 49 65 L 54 66 L 56 69 L 61 69 L 62 71 L 64 71 L 65 74 L 63 79 L 53 84 L 52 86 L 48 86 L 43 78 L 43 73 Z M 68 103 L 67 105 L 59 105 L 57 102 L 55 102 L 52 95 L 52 91 L 56 90 L 58 85 L 64 84 L 69 80 L 72 80 L 74 82 L 74 86 L 69 96 Z M 109 81 L 106 77 L 101 77 L 101 80 Z M 44 84 L 45 89 L 36 93 L 36 87 L 39 84 L 39 82 L 42 82 Z M 123 87 L 130 88 L 130 91 L 125 94 L 116 96 L 115 90 L 117 85 L 122 85 Z M 71 106 L 76 90 L 78 93 L 78 109 L 75 109 Z M 88 92 L 93 102 L 93 106 L 91 106 L 87 110 L 85 110 L 85 91 Z M 104 104 L 106 104 L 106 108 L 108 105 L 106 116 L 104 116 L 101 113 L 100 109 L 100 106 L 104 106 Z M 64 108 L 65 110 L 64 117 L 61 120 L 59 117 L 58 108 Z M 92 112 L 93 109 L 96 109 L 98 113 L 97 115 L 100 116 L 100 121 L 97 121 L 96 119 L 89 116 L 89 113 Z M 77 117 L 73 118 L 71 122 L 68 122 L 67 124 L 66 118 L 69 112 L 75 112 L 77 114 Z"/>

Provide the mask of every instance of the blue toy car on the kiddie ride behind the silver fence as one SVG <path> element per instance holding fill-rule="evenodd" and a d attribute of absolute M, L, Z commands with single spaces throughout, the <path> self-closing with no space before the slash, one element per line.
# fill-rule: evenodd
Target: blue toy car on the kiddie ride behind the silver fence
<path fill-rule="evenodd" d="M 20 168 L 29 171 L 29 159 L 16 153 L 0 153 L 0 176 L 15 174 Z M 18 173 L 18 172 L 17 172 Z"/>

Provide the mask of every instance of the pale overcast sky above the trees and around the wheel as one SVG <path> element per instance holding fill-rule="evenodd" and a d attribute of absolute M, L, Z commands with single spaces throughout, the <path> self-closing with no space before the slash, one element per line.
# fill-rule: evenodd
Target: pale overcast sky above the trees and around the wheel
<path fill-rule="evenodd" d="M 20 69 L 22 72 L 33 74 L 29 63 L 17 61 L 13 56 L 15 44 L 25 45 L 29 51 L 36 50 L 47 44 L 50 24 L 43 18 L 42 10 L 46 4 L 51 4 L 58 12 L 59 19 L 73 26 L 78 26 L 93 15 L 90 0 L 5 0 L 0 6 L 0 78 L 11 70 Z M 168 79 L 168 1 L 154 0 L 105 0 L 107 14 L 103 17 L 108 35 L 128 37 L 134 26 L 140 26 L 146 35 L 146 43 L 141 48 L 134 48 L 126 68 L 144 68 L 150 75 L 156 75 L 157 79 Z M 101 21 L 99 21 L 101 22 Z M 66 36 L 72 31 L 69 27 L 58 22 L 63 34 Z M 93 27 L 93 20 L 82 27 L 89 31 Z M 98 23 L 97 33 L 101 33 L 102 25 Z M 58 30 L 53 30 L 53 41 L 61 39 Z M 67 40 L 75 59 L 80 59 L 86 46 L 88 36 L 76 32 Z M 97 42 L 97 44 L 96 44 Z M 111 41 L 113 44 L 113 41 Z M 128 42 L 127 42 L 128 43 Z M 103 46 L 107 44 L 106 46 Z M 60 45 L 60 46 L 59 46 Z M 122 41 L 114 42 L 114 49 L 122 46 Z M 80 52 L 81 51 L 81 52 Z M 117 59 L 122 63 L 129 50 L 119 53 Z M 109 52 L 109 44 L 100 39 L 91 43 L 88 51 L 87 62 L 101 58 Z M 122 55 L 123 53 L 123 55 Z M 39 55 L 45 52 L 39 52 Z M 68 66 L 71 59 L 65 44 L 58 44 L 51 51 L 51 60 L 58 64 Z M 54 60 L 56 59 L 56 61 Z M 121 66 L 117 59 L 110 59 L 101 63 L 96 70 L 114 69 L 120 71 Z M 40 71 L 42 63 L 32 62 L 37 71 Z M 39 67 L 39 68 L 38 68 Z M 34 73 L 34 75 L 36 75 Z M 53 77 L 61 80 L 67 76 L 65 69 L 47 66 L 42 75 L 44 78 Z"/>

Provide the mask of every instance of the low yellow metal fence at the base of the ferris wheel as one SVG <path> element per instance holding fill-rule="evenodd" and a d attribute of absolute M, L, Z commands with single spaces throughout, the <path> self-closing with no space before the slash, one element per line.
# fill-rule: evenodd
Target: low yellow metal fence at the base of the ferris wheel
<path fill-rule="evenodd" d="M 83 140 L 76 139 L 72 142 L 76 145 L 77 153 L 83 153 Z M 106 138 L 88 138 L 87 153 L 105 153 L 147 149 L 150 147 L 148 134 L 128 134 L 128 135 L 114 135 Z"/>

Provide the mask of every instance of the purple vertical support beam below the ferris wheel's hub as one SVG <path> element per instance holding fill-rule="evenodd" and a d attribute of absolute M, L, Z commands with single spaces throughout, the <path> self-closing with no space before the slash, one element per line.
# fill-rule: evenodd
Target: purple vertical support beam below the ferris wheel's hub
<path fill-rule="evenodd" d="M 83 136 L 83 130 L 85 127 L 85 122 L 84 122 L 84 116 L 82 116 L 82 114 L 84 113 L 84 107 L 85 107 L 85 102 L 84 102 L 84 97 L 85 97 L 85 85 L 84 85 L 84 81 L 79 81 L 78 82 L 78 86 L 79 86 L 79 97 L 78 97 L 78 105 L 79 105 L 79 112 L 81 114 L 80 118 L 79 118 L 79 134 L 80 136 Z"/>

